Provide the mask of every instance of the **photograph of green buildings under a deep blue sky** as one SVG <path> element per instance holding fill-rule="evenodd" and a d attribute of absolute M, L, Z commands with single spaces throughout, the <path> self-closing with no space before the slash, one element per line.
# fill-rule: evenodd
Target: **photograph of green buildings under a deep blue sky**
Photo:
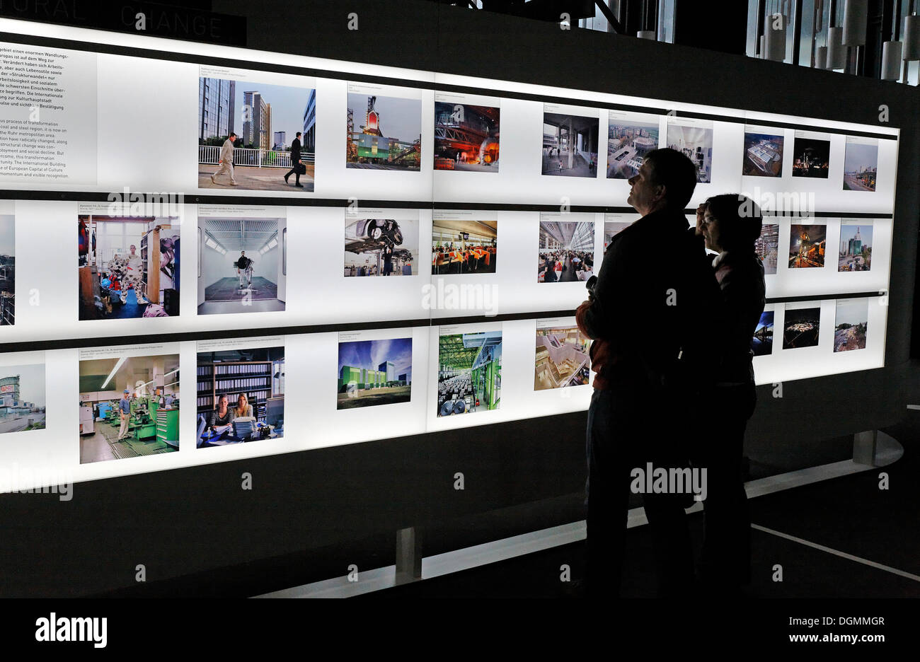
<path fill-rule="evenodd" d="M 337 409 L 412 399 L 412 338 L 339 343 Z"/>

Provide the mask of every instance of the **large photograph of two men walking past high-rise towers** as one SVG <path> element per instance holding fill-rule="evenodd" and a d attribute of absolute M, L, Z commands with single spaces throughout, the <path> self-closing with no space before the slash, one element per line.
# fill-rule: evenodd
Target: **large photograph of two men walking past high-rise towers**
<path fill-rule="evenodd" d="M 293 78 L 274 74 L 270 80 Z M 225 71 L 201 67 L 198 188 L 313 191 L 316 89 L 309 79 L 304 82 L 272 85 L 264 78 L 227 77 Z"/>

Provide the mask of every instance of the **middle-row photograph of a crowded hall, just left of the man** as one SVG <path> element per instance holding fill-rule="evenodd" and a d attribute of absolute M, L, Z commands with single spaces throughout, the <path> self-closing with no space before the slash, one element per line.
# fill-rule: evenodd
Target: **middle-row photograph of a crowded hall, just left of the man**
<path fill-rule="evenodd" d="M 537 282 L 578 282 L 594 274 L 594 223 L 540 220 Z"/>

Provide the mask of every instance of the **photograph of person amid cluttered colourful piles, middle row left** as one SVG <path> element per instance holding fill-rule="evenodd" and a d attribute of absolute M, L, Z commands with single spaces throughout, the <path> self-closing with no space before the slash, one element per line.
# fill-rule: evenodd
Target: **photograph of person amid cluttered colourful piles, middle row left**
<path fill-rule="evenodd" d="M 79 319 L 179 314 L 179 220 L 77 216 Z"/>

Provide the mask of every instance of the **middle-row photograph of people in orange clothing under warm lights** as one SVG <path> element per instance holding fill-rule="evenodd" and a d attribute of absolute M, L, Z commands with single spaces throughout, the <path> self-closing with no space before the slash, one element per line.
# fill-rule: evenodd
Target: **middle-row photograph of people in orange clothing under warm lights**
<path fill-rule="evenodd" d="M 435 211 L 431 275 L 495 273 L 498 228 L 495 211 Z"/>

